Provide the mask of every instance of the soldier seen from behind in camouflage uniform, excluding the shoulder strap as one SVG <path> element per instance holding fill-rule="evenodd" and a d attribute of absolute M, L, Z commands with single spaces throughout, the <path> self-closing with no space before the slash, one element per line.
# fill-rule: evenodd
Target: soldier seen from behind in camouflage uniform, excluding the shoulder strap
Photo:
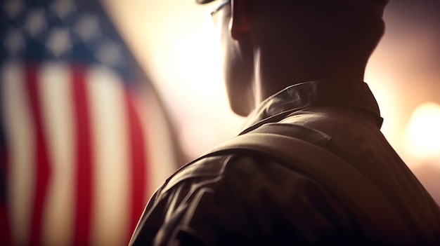
<path fill-rule="evenodd" d="M 231 107 L 248 117 L 242 135 L 276 123 L 281 134 L 349 163 L 397 214 L 396 221 L 376 221 L 390 225 L 387 238 L 371 236 L 368 214 L 352 210 L 322 180 L 273 156 L 229 151 L 200 158 L 168 179 L 146 207 L 131 244 L 439 245 L 439 206 L 380 133 L 379 108 L 363 83 L 384 32 L 386 4 L 233 0 L 224 1 L 213 17 Z M 322 158 L 323 166 L 334 164 Z M 399 223 L 406 233 L 393 230 Z"/>

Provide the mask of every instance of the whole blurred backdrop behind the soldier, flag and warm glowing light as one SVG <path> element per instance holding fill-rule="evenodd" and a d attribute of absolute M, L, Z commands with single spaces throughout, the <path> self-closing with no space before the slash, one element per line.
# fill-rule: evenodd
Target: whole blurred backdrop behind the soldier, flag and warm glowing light
<path fill-rule="evenodd" d="M 234 137 L 193 0 L 0 0 L 0 245 L 125 245 L 174 170 Z M 390 0 L 365 81 L 440 203 L 440 1 Z"/>

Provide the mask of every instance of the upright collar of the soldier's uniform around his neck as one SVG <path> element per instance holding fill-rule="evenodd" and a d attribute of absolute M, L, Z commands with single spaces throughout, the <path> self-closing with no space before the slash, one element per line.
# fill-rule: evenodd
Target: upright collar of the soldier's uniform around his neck
<path fill-rule="evenodd" d="M 320 80 L 298 83 L 268 97 L 251 112 L 246 128 L 261 125 L 286 112 L 292 113 L 308 107 L 342 107 L 361 109 L 382 125 L 379 106 L 368 85 L 362 81 Z"/>

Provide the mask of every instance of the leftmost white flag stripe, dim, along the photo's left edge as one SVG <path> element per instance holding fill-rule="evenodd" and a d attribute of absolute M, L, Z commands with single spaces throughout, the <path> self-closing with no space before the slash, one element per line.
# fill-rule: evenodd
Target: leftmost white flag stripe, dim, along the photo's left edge
<path fill-rule="evenodd" d="M 8 209 L 13 245 L 27 245 L 34 204 L 34 132 L 26 94 L 25 71 L 7 64 L 1 71 L 6 137 L 9 148 Z"/>

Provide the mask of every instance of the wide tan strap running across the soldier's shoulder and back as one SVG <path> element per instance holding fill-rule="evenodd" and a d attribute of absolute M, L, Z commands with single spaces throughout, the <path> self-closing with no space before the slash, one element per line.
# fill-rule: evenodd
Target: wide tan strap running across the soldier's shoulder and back
<path fill-rule="evenodd" d="M 295 137 L 250 132 L 216 146 L 205 156 L 231 150 L 264 153 L 321 182 L 362 219 L 361 226 L 368 238 L 378 242 L 396 243 L 398 239 L 410 245 L 415 243 L 408 226 L 377 187 L 330 151 Z"/>

